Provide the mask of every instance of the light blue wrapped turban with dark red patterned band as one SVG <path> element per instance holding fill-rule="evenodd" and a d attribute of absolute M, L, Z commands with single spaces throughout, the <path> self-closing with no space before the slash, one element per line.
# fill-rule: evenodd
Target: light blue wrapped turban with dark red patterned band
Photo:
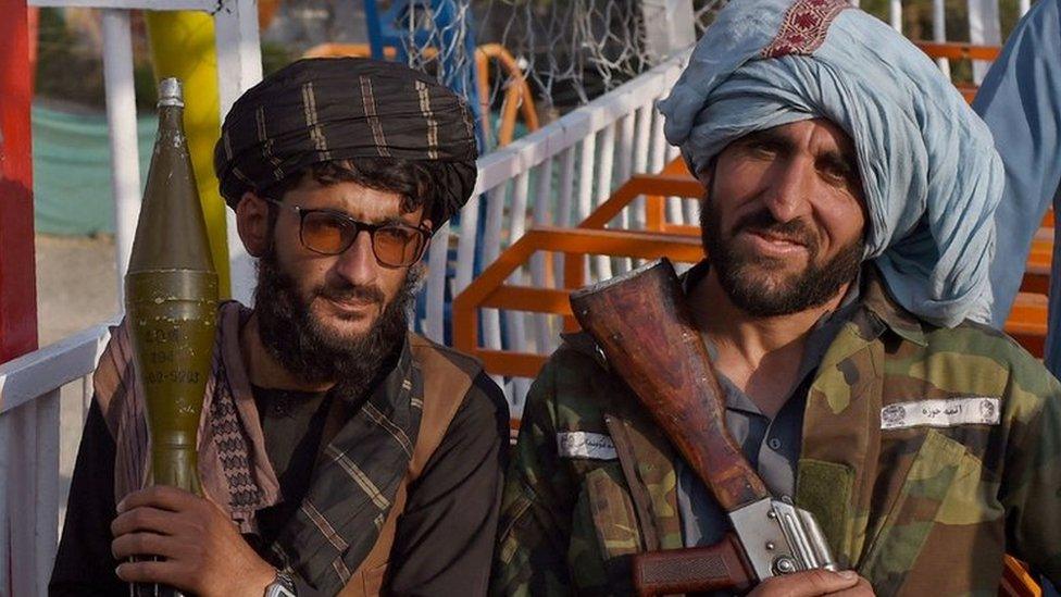
<path fill-rule="evenodd" d="M 660 109 L 692 172 L 754 130 L 828 119 L 854 141 L 865 258 L 895 299 L 935 325 L 988 320 L 1001 161 L 953 85 L 883 22 L 840 0 L 733 0 Z"/>

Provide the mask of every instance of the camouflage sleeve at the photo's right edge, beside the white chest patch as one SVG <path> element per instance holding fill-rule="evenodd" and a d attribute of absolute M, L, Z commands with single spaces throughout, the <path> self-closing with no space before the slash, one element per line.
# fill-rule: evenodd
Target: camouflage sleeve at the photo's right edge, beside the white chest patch
<path fill-rule="evenodd" d="M 999 499 L 1007 551 L 1061 582 L 1061 384 L 1028 355 L 1013 365 Z"/>

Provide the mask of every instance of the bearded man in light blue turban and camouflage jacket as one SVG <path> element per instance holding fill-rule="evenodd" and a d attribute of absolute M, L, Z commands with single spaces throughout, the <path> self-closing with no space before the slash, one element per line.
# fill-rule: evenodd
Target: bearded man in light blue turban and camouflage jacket
<path fill-rule="evenodd" d="M 704 187 L 682 283 L 726 427 L 842 571 L 753 593 L 994 594 L 1007 552 L 1061 577 L 1061 385 L 981 323 L 1002 169 L 958 91 L 846 2 L 738 0 L 661 110 Z M 496 594 L 629 594 L 634 554 L 731 530 L 614 366 L 575 334 L 536 380 Z"/>

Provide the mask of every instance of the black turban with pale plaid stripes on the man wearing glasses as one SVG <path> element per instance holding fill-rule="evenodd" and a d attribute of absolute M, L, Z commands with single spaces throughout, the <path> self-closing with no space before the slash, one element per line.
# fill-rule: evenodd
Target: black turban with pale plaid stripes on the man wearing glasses
<path fill-rule="evenodd" d="M 436 229 L 475 186 L 475 130 L 463 98 L 395 62 L 319 58 L 294 62 L 233 104 L 214 148 L 229 207 L 319 162 L 395 158 L 444 167 Z"/>

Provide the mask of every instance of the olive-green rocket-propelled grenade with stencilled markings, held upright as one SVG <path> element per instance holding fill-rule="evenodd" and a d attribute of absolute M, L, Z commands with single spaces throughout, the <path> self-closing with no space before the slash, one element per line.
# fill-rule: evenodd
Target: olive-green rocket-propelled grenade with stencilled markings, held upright
<path fill-rule="evenodd" d="M 196 436 L 213 360 L 217 274 L 183 117 L 180 82 L 163 79 L 159 133 L 125 275 L 125 309 L 151 436 L 148 483 L 201 495 Z M 136 593 L 179 595 L 154 586 Z"/>

